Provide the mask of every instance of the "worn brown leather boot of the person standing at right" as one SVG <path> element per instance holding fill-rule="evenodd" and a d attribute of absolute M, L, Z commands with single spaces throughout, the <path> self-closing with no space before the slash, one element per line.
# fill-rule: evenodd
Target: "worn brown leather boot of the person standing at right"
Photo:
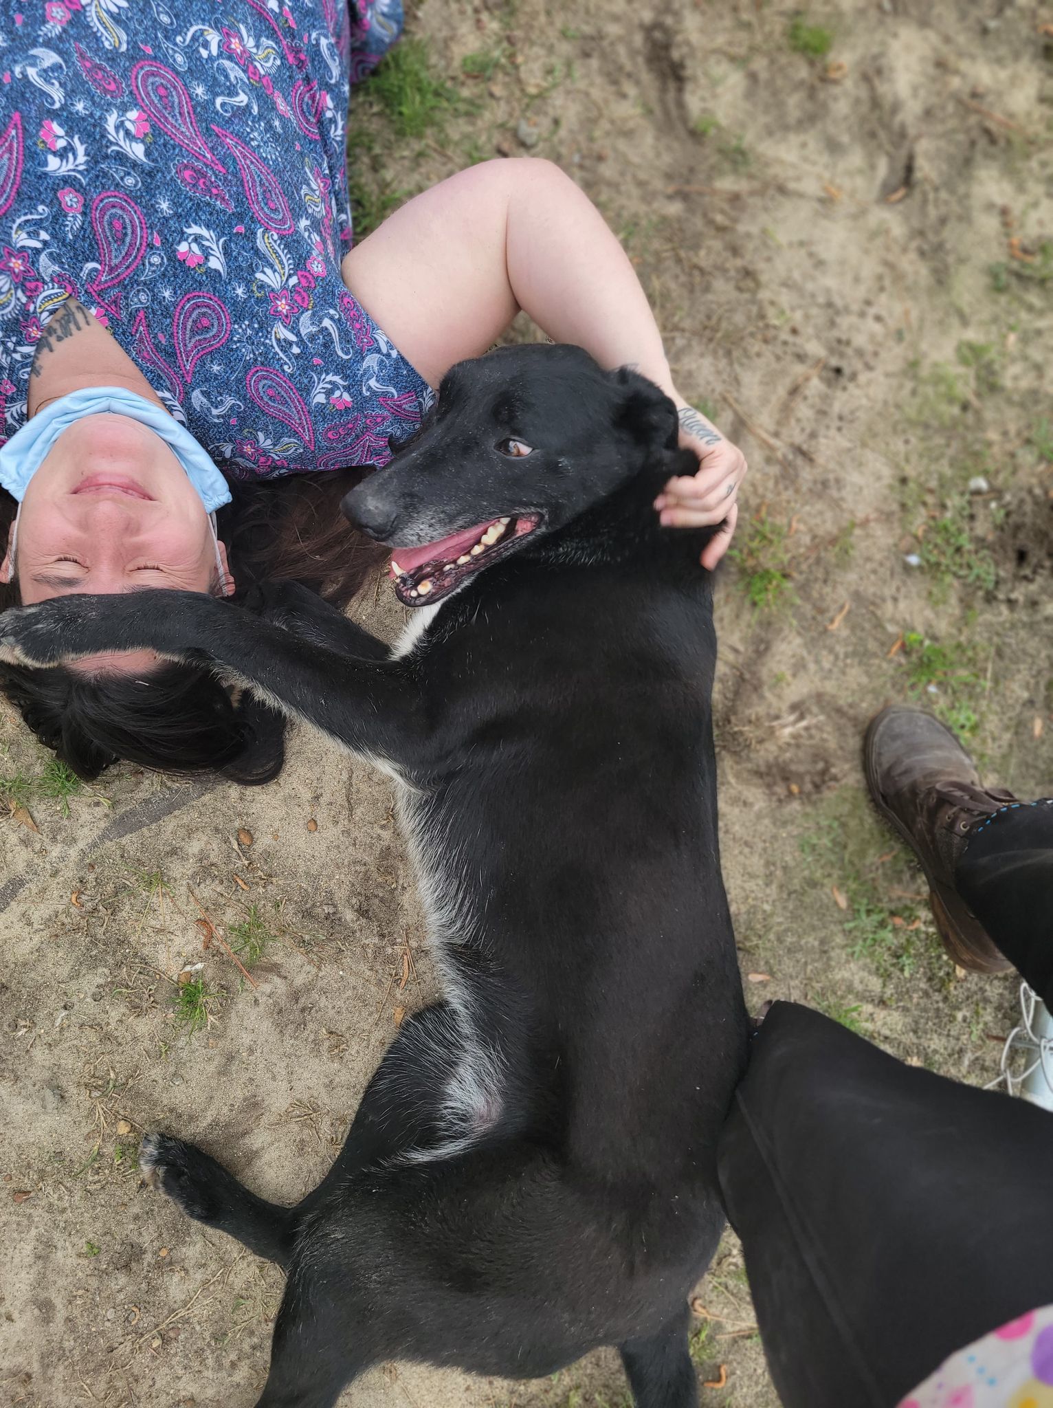
<path fill-rule="evenodd" d="M 973 973 L 1005 973 L 1012 964 L 954 890 L 954 866 L 970 829 L 1016 798 L 983 787 L 973 759 L 952 731 L 931 714 L 901 704 L 870 721 L 863 766 L 877 810 L 921 862 L 947 953 Z"/>

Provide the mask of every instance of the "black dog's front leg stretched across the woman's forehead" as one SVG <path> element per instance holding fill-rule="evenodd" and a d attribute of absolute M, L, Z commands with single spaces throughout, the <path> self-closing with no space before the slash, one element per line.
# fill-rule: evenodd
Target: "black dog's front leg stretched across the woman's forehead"
<path fill-rule="evenodd" d="M 349 653 L 360 643 L 360 658 Z M 48 667 L 120 650 L 211 665 L 356 753 L 412 767 L 425 750 L 420 691 L 404 662 L 346 621 L 341 653 L 198 591 L 53 597 L 0 615 L 0 660 Z M 379 655 L 383 653 L 383 658 Z"/>

